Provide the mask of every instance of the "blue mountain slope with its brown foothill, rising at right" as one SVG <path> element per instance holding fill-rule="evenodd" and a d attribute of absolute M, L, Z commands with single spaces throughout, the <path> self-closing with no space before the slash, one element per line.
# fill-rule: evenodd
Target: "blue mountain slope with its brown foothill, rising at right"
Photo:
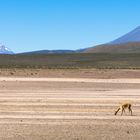
<path fill-rule="evenodd" d="M 111 41 L 87 48 L 84 53 L 138 53 L 140 52 L 140 27 L 137 27 L 128 34 Z"/>

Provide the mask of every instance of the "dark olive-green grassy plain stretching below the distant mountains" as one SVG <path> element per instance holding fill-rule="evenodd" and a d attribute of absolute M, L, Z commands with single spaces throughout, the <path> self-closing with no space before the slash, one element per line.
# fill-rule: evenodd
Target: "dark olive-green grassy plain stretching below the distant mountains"
<path fill-rule="evenodd" d="M 140 53 L 0 55 L 0 68 L 140 69 Z"/>

